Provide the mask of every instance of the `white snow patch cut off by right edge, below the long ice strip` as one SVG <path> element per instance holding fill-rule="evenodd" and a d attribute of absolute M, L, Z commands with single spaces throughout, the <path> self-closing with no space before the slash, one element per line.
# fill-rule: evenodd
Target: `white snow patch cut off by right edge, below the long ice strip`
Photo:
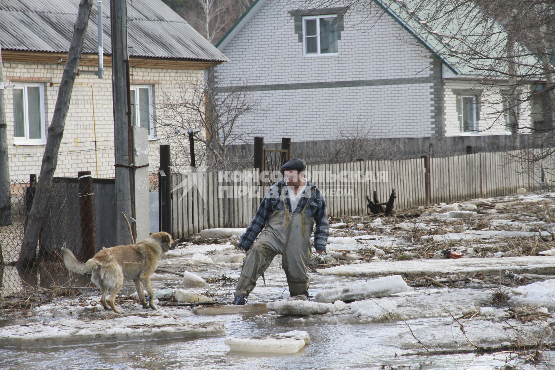
<path fill-rule="evenodd" d="M 511 290 L 509 303 L 520 307 L 547 307 L 555 310 L 555 279 L 538 281 Z"/>

